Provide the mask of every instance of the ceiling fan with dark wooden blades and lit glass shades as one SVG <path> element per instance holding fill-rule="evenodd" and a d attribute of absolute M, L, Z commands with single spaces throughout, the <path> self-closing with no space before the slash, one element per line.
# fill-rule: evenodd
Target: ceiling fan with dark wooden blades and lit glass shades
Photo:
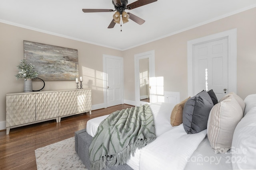
<path fill-rule="evenodd" d="M 139 18 L 138 16 L 135 16 L 134 14 L 130 12 L 125 12 L 124 10 L 132 10 L 134 8 L 138 8 L 140 6 L 144 6 L 147 4 L 150 4 L 152 2 L 156 2 L 157 0 L 137 0 L 131 4 L 128 4 L 128 0 L 112 0 L 112 3 L 114 5 L 115 10 L 112 9 L 82 9 L 83 12 L 115 12 L 113 15 L 113 20 L 108 25 L 108 28 L 114 28 L 116 23 L 120 23 L 122 16 L 123 23 L 128 22 L 128 19 L 130 18 L 132 21 L 138 23 L 139 25 L 142 25 L 145 20 Z M 128 5 L 127 5 L 128 4 Z M 121 25 L 122 26 L 122 25 Z M 122 29 L 121 29 L 122 31 Z"/>

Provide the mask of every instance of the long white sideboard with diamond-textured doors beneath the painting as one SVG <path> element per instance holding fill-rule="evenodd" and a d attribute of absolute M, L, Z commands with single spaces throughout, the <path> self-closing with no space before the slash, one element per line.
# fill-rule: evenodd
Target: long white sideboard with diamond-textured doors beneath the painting
<path fill-rule="evenodd" d="M 6 94 L 6 134 L 10 128 L 92 110 L 91 89 Z"/>

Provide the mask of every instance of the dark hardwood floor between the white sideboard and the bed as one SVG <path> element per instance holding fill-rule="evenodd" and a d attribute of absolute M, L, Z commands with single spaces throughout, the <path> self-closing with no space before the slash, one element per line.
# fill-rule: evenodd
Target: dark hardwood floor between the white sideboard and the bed
<path fill-rule="evenodd" d="M 99 109 L 88 113 L 64 117 L 61 122 L 56 120 L 36 123 L 23 127 L 0 131 L 0 170 L 36 170 L 34 150 L 68 139 L 74 132 L 86 128 L 89 119 L 110 114 L 116 110 L 132 106 L 122 104 Z"/>

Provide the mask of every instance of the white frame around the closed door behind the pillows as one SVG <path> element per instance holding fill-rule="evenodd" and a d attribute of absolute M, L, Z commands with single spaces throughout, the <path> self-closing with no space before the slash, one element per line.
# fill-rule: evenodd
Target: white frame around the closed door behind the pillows
<path fill-rule="evenodd" d="M 208 35 L 187 42 L 188 96 L 194 96 L 194 45 L 228 38 L 228 91 L 237 94 L 237 29 Z"/>

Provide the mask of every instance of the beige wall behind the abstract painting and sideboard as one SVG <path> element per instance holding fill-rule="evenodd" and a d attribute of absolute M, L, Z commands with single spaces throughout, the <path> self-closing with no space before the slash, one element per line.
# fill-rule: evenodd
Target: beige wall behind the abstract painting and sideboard
<path fill-rule="evenodd" d="M 0 23 L 0 123 L 6 120 L 6 93 L 22 92 L 24 79 L 16 80 L 16 66 L 24 59 L 23 40 L 78 49 L 79 75 L 83 88 L 92 88 L 92 104 L 103 104 L 103 54 L 121 56 L 122 51 L 58 37 L 30 29 Z M 88 81 L 92 82 L 88 86 Z M 92 81 L 91 81 L 92 80 Z M 74 81 L 46 81 L 44 90 L 75 89 Z M 33 82 L 38 90 L 42 83 Z M 1 125 L 0 125 L 1 126 Z"/>

